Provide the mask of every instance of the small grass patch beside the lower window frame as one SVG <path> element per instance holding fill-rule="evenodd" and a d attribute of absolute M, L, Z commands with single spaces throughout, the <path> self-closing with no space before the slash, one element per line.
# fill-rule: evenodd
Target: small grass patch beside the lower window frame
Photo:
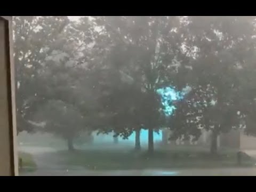
<path fill-rule="evenodd" d="M 36 163 L 28 153 L 19 152 L 19 159 L 22 159 L 22 166 L 19 164 L 19 172 L 33 172 L 36 170 Z"/>

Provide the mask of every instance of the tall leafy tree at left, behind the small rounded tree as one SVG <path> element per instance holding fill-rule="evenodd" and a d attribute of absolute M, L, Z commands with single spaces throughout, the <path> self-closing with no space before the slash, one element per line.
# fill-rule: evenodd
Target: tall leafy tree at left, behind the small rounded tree
<path fill-rule="evenodd" d="M 87 29 L 83 33 L 79 27 L 67 17 L 14 18 L 18 131 L 34 130 L 28 121 L 50 100 L 71 105 L 86 117 L 94 114 L 91 105 L 95 102 L 89 94 L 93 88 L 85 83 L 90 76 L 85 61 L 92 53 L 85 44 L 92 42 L 91 23 L 83 20 Z M 94 121 L 86 119 L 84 129 Z"/>

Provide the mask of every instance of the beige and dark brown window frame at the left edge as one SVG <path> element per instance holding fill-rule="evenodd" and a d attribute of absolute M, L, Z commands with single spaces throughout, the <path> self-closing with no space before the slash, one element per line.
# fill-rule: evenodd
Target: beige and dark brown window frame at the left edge
<path fill-rule="evenodd" d="M 9 126 L 7 127 L 0 127 L 0 129 L 4 132 L 9 133 L 9 139 L 6 139 L 5 141 L 0 140 L 0 144 L 2 145 L 2 148 L 4 148 L 4 151 L 9 152 L 9 156 L 7 157 L 6 153 L 3 153 L 2 150 L 0 150 L 0 156 L 3 157 L 2 162 L 3 164 L 0 164 L 0 167 L 9 166 L 6 167 L 3 172 L 0 172 L 0 175 L 18 175 L 18 151 L 17 151 L 17 125 L 16 125 L 16 105 L 15 105 L 15 79 L 14 79 L 14 62 L 13 62 L 13 35 L 12 35 L 12 16 L 0 16 L 0 20 L 3 21 L 3 29 L 4 35 L 0 38 L 5 38 L 2 42 L 4 42 L 4 50 L 2 51 L 2 54 L 4 53 L 5 58 L 3 63 L 6 65 L 4 68 L 6 70 L 2 71 L 2 73 L 5 73 L 7 79 L 5 86 L 2 85 L 0 89 L 5 89 L 7 91 L 7 110 L 5 110 L 3 113 L 6 113 L 7 119 L 2 118 L 2 121 L 8 121 L 7 124 Z M 0 39 L 1 42 L 1 39 Z M 1 71 L 0 71 L 1 72 Z M 4 110 L 4 109 L 3 109 Z M 1 121 L 1 118 L 0 118 Z M 5 160 L 6 159 L 6 160 Z"/>

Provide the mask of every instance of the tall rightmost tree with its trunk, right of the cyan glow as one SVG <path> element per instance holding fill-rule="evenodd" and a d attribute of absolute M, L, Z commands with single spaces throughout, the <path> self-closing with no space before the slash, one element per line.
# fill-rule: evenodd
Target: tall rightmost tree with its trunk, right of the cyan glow
<path fill-rule="evenodd" d="M 238 126 L 235 102 L 238 72 L 251 52 L 247 47 L 252 46 L 252 20 L 252 17 L 188 17 L 190 47 L 198 50 L 191 65 L 190 81 L 198 102 L 194 103 L 195 117 L 200 117 L 198 124 L 204 129 L 212 131 L 212 154 L 217 153 L 218 135 Z"/>

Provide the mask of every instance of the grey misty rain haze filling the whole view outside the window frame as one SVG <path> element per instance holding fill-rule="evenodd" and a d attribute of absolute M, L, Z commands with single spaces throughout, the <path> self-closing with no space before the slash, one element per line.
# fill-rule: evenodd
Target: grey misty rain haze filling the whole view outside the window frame
<path fill-rule="evenodd" d="M 14 16 L 20 175 L 256 175 L 255 19 Z"/>

